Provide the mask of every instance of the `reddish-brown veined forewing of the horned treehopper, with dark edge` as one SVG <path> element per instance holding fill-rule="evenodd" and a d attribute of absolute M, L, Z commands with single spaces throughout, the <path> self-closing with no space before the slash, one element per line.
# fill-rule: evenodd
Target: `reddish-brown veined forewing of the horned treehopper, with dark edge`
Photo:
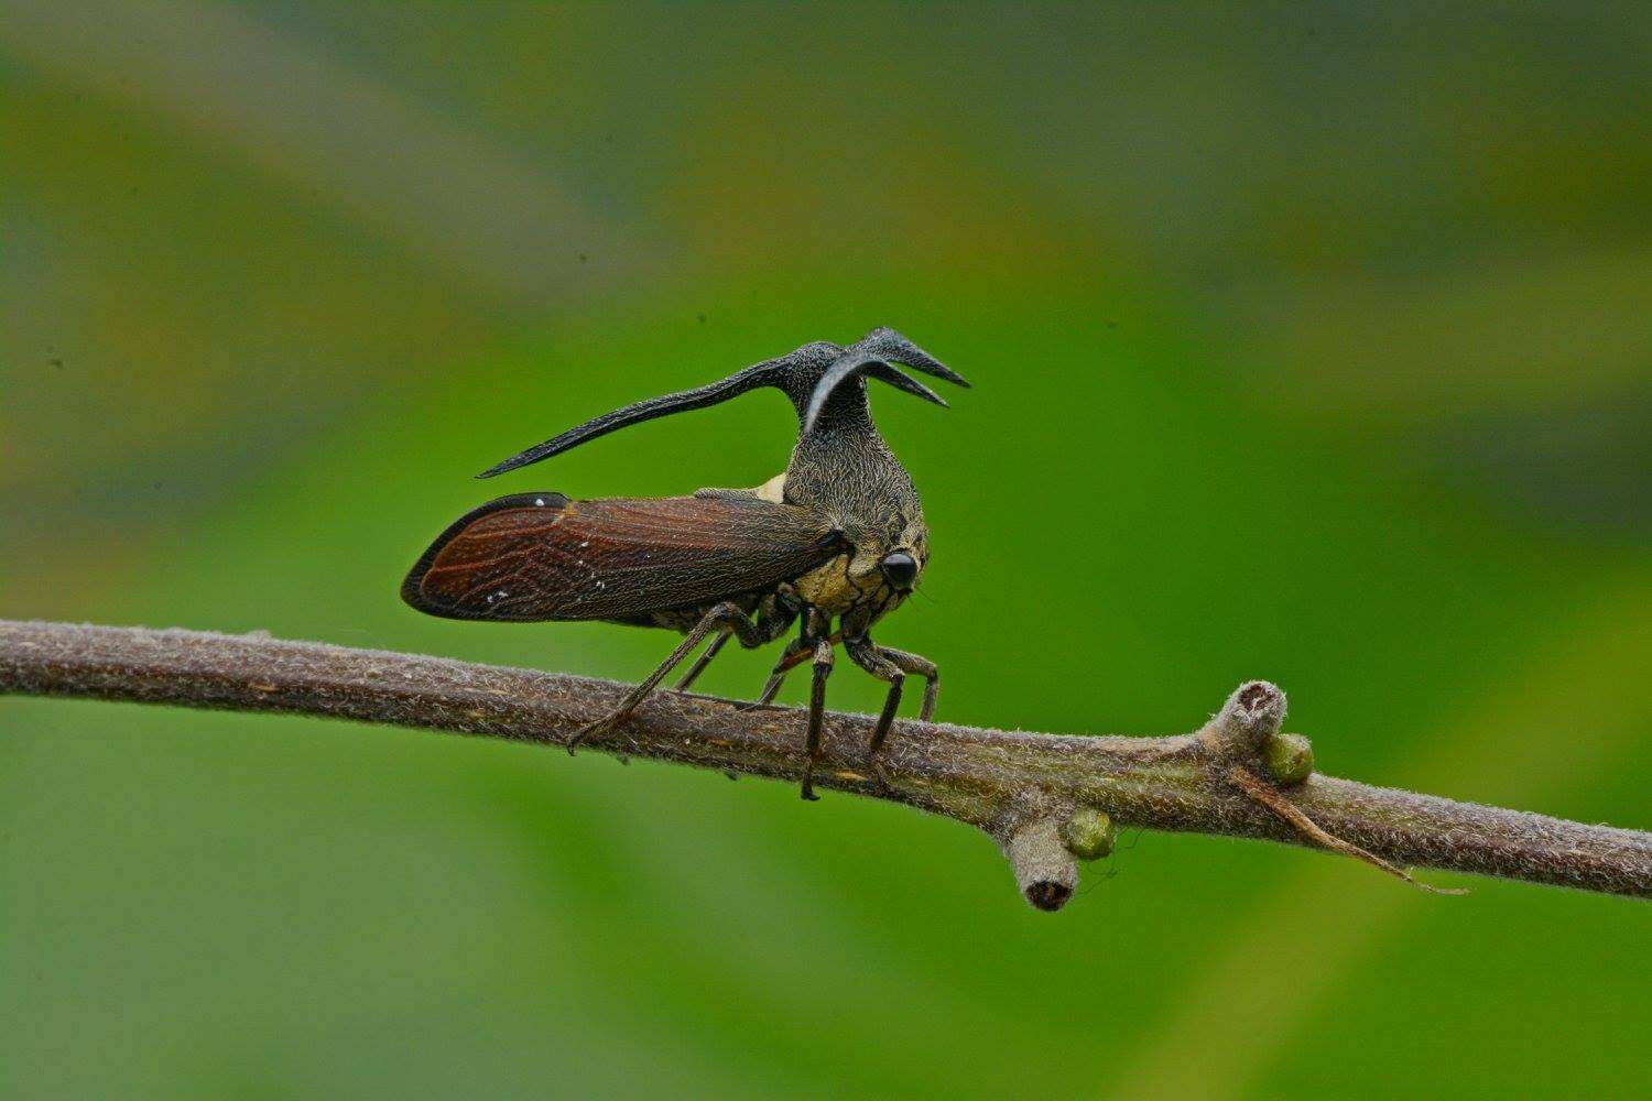
<path fill-rule="evenodd" d="M 624 617 L 767 589 L 841 548 L 813 513 L 747 494 L 517 494 L 443 532 L 401 598 L 451 619 Z"/>

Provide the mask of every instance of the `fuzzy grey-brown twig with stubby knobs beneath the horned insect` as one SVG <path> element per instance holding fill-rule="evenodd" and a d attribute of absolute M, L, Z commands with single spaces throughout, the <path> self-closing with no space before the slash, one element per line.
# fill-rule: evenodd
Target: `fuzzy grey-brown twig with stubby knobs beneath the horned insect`
<path fill-rule="evenodd" d="M 197 631 L 0 621 L 0 693 L 240 711 L 301 711 L 565 744 L 624 687 L 436 657 Z M 1312 773 L 1282 735 L 1285 697 L 1249 682 L 1193 735 L 1075 738 L 897 723 L 879 769 L 871 720 L 828 715 L 818 787 L 942 814 L 988 832 L 1029 903 L 1057 910 L 1075 858 L 1118 827 L 1194 830 L 1652 898 L 1652 834 L 1584 825 Z M 588 748 L 796 781 L 803 715 L 661 692 Z"/>

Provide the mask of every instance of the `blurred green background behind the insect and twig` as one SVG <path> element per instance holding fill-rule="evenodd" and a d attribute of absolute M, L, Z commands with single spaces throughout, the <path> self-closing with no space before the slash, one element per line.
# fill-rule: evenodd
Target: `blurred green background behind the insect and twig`
<path fill-rule="evenodd" d="M 935 555 L 881 639 L 942 718 L 1180 731 L 1269 677 L 1327 771 L 1647 827 L 1649 119 L 1645 5 L 0 0 L 0 616 L 636 678 L 669 636 L 396 584 L 494 492 L 767 479 L 778 395 L 469 475 L 889 324 L 975 383 L 874 393 Z M 1051 918 L 778 784 L 0 730 L 7 1096 L 1645 1088 L 1624 900 L 1130 834 Z"/>

